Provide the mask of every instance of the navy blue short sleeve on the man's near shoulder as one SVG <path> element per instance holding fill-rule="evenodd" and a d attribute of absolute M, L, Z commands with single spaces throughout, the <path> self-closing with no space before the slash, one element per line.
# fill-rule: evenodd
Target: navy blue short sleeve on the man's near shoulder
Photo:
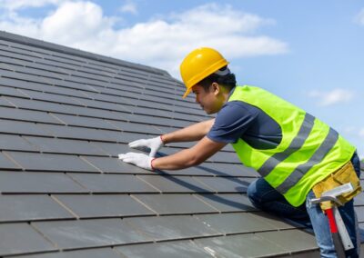
<path fill-rule="evenodd" d="M 227 102 L 217 113 L 207 137 L 218 143 L 234 144 L 255 123 L 258 108 L 241 101 Z"/>

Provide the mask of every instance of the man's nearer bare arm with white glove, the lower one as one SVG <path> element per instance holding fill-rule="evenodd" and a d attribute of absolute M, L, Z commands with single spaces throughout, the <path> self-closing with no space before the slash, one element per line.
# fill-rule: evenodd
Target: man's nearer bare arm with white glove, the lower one
<path fill-rule="evenodd" d="M 127 153 L 119 154 L 119 159 L 148 170 L 177 170 L 203 163 L 225 145 L 204 137 L 193 147 L 166 157 L 153 158 L 146 154 Z"/>

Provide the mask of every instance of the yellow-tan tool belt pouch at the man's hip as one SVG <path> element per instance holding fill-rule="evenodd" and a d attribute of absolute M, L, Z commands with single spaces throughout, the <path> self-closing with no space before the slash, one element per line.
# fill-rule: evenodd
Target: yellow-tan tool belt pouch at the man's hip
<path fill-rule="evenodd" d="M 349 202 L 352 198 L 354 198 L 354 196 L 361 193 L 360 180 L 351 162 L 343 165 L 334 173 L 329 174 L 329 176 L 327 176 L 324 180 L 315 184 L 312 191 L 315 193 L 316 198 L 319 198 L 322 193 L 348 183 L 352 184 L 354 190 L 350 193 L 344 193 L 338 196 L 339 201 L 343 204 Z M 332 203 L 329 201 L 322 202 L 320 203 L 320 206 L 322 211 L 325 211 L 332 207 Z"/>

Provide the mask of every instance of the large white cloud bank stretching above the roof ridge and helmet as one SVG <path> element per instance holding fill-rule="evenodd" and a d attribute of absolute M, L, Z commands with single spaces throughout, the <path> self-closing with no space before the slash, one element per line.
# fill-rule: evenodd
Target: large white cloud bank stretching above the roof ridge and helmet
<path fill-rule="evenodd" d="M 116 29 L 117 18 L 104 15 L 102 8 L 95 3 L 37 1 L 39 5 L 57 3 L 57 7 L 54 12 L 38 20 L 13 12 L 11 17 L 0 20 L 0 29 L 157 66 L 177 77 L 182 58 L 198 46 L 216 47 L 230 61 L 246 56 L 288 52 L 285 42 L 258 35 L 258 29 L 264 25 L 274 25 L 273 20 L 234 10 L 229 5 L 201 5 L 184 13 Z"/>

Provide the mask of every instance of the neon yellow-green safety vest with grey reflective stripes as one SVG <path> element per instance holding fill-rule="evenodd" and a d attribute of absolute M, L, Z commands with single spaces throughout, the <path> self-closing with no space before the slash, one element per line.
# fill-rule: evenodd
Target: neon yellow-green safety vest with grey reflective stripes
<path fill-rule="evenodd" d="M 277 147 L 259 150 L 241 138 L 232 144 L 240 161 L 254 168 L 288 203 L 299 206 L 326 176 L 348 163 L 355 147 L 328 124 L 294 104 L 254 86 L 237 86 L 228 101 L 254 105 L 282 130 Z"/>

